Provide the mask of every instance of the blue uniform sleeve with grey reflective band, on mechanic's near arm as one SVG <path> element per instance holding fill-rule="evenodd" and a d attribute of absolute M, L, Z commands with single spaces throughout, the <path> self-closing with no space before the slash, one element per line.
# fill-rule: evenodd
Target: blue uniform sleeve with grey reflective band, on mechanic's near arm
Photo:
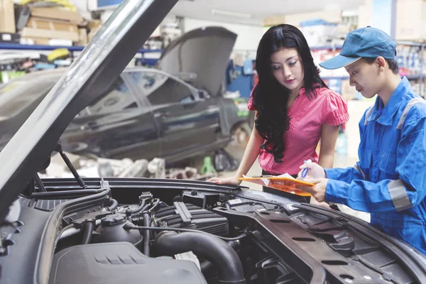
<path fill-rule="evenodd" d="M 417 109 L 417 106 L 413 109 Z M 398 180 L 386 179 L 376 183 L 366 180 L 352 180 L 349 183 L 329 180 L 325 199 L 371 213 L 403 211 L 423 202 L 426 196 L 425 114 L 426 107 L 423 105 L 421 111 L 415 111 L 410 119 L 407 117 L 401 129 L 395 168 Z"/>

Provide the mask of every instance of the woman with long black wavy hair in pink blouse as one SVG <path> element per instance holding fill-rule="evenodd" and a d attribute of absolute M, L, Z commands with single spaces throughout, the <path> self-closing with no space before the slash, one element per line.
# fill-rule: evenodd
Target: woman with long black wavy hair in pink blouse
<path fill-rule="evenodd" d="M 269 28 L 258 45 L 256 70 L 258 83 L 248 104 L 256 119 L 239 169 L 209 181 L 239 185 L 258 156 L 263 175 L 297 177 L 308 159 L 331 168 L 339 126 L 349 114 L 342 96 L 321 80 L 303 34 L 287 24 Z"/>

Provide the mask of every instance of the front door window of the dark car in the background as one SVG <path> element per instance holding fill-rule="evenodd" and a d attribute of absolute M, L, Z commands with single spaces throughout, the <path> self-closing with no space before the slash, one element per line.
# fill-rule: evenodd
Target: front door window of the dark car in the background
<path fill-rule="evenodd" d="M 141 93 L 153 105 L 190 103 L 194 94 L 185 84 L 158 72 L 128 72 Z"/>

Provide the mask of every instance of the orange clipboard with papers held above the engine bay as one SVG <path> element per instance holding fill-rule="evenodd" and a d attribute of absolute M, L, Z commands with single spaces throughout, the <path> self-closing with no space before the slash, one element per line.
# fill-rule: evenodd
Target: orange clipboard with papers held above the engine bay
<path fill-rule="evenodd" d="M 248 177 L 246 175 L 243 178 L 238 178 L 239 180 L 246 180 L 248 182 L 256 183 L 257 185 L 263 185 L 266 187 L 271 187 L 275 190 L 280 190 L 283 192 L 292 193 L 293 195 L 299 196 L 311 196 L 310 193 L 307 193 L 303 190 L 299 190 L 296 186 L 305 186 L 312 187 L 315 184 L 310 182 L 304 182 L 302 180 L 296 180 L 291 175 L 260 175 Z"/>

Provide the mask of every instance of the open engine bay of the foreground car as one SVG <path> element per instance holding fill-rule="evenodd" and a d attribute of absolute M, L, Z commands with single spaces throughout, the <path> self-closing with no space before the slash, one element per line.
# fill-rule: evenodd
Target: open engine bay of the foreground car
<path fill-rule="evenodd" d="M 397 244 L 342 212 L 209 182 L 84 182 L 43 180 L 46 192 L 21 196 L 4 258 L 33 234 L 52 284 L 420 283 Z"/>

